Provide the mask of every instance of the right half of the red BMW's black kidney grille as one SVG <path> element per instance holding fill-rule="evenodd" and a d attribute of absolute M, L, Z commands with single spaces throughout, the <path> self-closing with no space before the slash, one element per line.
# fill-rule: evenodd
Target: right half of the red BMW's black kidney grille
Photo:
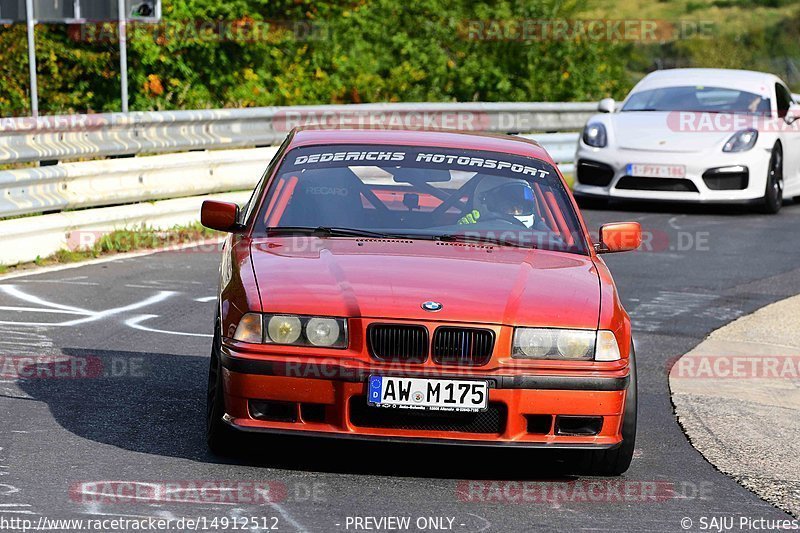
<path fill-rule="evenodd" d="M 494 332 L 490 329 L 436 328 L 433 360 L 442 364 L 485 365 L 492 358 Z"/>

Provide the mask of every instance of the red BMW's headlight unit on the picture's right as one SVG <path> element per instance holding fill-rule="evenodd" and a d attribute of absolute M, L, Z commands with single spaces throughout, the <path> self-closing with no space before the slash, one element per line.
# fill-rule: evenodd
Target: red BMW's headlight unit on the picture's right
<path fill-rule="evenodd" d="M 616 361 L 619 347 L 611 331 L 585 329 L 517 328 L 511 357 Z"/>

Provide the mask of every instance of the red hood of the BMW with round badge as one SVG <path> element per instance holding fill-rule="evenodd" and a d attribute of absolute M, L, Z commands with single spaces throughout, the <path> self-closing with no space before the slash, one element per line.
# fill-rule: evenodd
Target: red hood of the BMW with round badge
<path fill-rule="evenodd" d="M 251 245 L 266 313 L 596 328 L 589 257 L 433 241 L 269 238 Z M 441 311 L 422 309 L 433 300 Z"/>

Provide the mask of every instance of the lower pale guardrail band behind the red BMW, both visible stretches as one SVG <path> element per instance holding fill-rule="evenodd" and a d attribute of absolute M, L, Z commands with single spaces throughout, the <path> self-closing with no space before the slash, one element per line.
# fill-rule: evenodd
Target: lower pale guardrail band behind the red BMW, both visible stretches
<path fill-rule="evenodd" d="M 538 140 L 572 172 L 577 133 Z M 277 147 L 213 150 L 0 171 L 0 217 L 251 190 Z"/>

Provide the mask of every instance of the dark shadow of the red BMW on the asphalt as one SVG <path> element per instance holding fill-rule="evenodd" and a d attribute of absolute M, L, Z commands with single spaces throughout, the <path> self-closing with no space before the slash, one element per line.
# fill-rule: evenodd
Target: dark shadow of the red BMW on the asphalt
<path fill-rule="evenodd" d="M 70 362 L 37 362 L 25 369 L 19 385 L 47 403 L 63 428 L 95 443 L 198 462 L 309 472 L 475 480 L 571 477 L 570 457 L 550 450 L 248 434 L 236 457 L 217 457 L 205 443 L 207 358 L 78 348 L 62 353 Z"/>

